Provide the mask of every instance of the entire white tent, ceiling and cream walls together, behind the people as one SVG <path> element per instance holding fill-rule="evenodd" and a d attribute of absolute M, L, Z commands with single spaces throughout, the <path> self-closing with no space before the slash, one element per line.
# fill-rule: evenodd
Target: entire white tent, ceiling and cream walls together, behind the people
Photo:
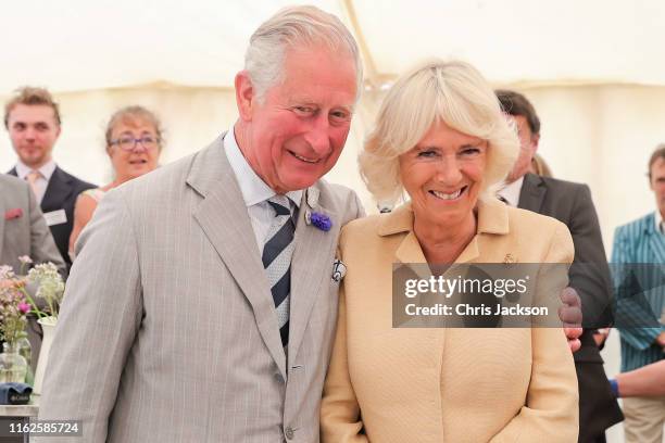
<path fill-rule="evenodd" d="M 60 101 L 54 156 L 97 183 L 111 180 L 103 127 L 142 104 L 166 127 L 162 164 L 192 153 L 237 115 L 234 75 L 255 27 L 285 0 L 24 0 L 0 9 L 0 100 L 46 86 Z M 375 203 L 356 156 L 385 90 L 424 58 L 461 58 L 497 87 L 518 89 L 542 121 L 540 152 L 556 177 L 590 185 L 610 252 L 616 226 L 654 210 L 644 173 L 665 141 L 662 0 L 312 1 L 357 37 L 366 71 L 347 148 L 328 179 Z M 15 161 L 0 136 L 0 170 Z M 616 334 L 604 351 L 618 370 Z M 613 440 L 622 441 L 618 432 Z"/>

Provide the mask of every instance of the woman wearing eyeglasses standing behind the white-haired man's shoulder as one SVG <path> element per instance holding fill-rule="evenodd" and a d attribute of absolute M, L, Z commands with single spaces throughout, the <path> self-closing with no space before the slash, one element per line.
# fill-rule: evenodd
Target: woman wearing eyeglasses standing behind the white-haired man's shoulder
<path fill-rule="evenodd" d="M 142 106 L 116 111 L 106 125 L 106 153 L 115 178 L 101 188 L 83 192 L 74 207 L 74 229 L 70 237 L 70 257 L 83 228 L 90 221 L 101 198 L 109 190 L 154 170 L 162 152 L 162 127 L 158 117 Z"/>

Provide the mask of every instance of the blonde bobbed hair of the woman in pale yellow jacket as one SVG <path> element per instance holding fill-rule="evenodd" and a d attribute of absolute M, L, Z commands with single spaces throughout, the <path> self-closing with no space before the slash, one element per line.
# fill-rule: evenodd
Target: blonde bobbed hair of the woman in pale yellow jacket
<path fill-rule="evenodd" d="M 517 159 L 517 134 L 475 67 L 432 60 L 401 76 L 388 91 L 360 154 L 361 175 L 377 201 L 393 203 L 402 195 L 398 157 L 437 122 L 488 141 L 480 195 L 493 197 Z"/>

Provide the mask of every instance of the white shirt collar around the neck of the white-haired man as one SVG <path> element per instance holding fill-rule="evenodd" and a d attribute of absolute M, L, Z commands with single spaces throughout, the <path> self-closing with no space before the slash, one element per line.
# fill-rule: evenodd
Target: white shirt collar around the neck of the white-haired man
<path fill-rule="evenodd" d="M 244 159 L 244 155 L 242 155 L 233 127 L 226 132 L 226 136 L 224 136 L 224 151 L 226 152 L 226 157 L 228 159 L 228 163 L 230 163 L 231 169 L 234 169 L 234 174 L 240 186 L 242 199 L 248 207 L 262 203 L 276 195 L 276 192 L 256 175 L 254 169 L 252 169 L 247 162 L 247 159 Z M 300 206 L 302 189 L 289 191 L 286 195 L 296 203 L 297 207 Z"/>

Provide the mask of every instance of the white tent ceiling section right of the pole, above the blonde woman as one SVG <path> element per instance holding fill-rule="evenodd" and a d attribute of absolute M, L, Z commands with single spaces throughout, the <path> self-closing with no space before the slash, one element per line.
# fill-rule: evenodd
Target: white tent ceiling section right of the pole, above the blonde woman
<path fill-rule="evenodd" d="M 497 83 L 665 84 L 662 1 L 352 3 L 379 74 L 444 55 Z"/>

